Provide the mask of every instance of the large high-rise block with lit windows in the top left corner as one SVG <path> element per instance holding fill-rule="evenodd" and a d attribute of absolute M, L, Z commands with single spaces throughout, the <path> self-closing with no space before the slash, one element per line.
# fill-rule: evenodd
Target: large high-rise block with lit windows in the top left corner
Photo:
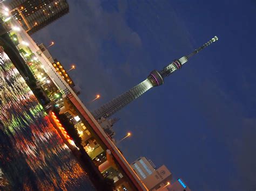
<path fill-rule="evenodd" d="M 69 12 L 66 0 L 11 0 L 11 15 L 32 34 Z"/>

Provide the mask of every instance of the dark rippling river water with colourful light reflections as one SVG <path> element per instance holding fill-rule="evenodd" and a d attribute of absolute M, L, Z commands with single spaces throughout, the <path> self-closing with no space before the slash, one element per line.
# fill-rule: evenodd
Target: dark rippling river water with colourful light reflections
<path fill-rule="evenodd" d="M 0 190 L 95 190 L 23 77 L 0 54 Z"/>

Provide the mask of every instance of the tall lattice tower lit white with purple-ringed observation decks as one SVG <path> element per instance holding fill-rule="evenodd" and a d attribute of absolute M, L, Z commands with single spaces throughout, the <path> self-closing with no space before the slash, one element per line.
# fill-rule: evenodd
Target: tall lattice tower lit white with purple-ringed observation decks
<path fill-rule="evenodd" d="M 143 95 L 147 90 L 160 86 L 164 83 L 164 78 L 175 72 L 177 69 L 180 69 L 184 63 L 188 61 L 193 55 L 197 54 L 199 51 L 204 49 L 205 47 L 209 46 L 210 44 L 214 43 L 218 40 L 218 37 L 214 37 L 205 43 L 203 46 L 200 46 L 191 54 L 187 56 L 183 56 L 180 59 L 173 60 L 169 65 L 164 67 L 164 69 L 157 71 L 153 70 L 149 76 L 147 76 L 146 80 L 139 83 L 137 86 L 134 86 L 130 90 L 126 91 L 124 94 L 119 95 L 118 97 L 114 98 L 110 102 L 102 105 L 102 107 L 96 109 L 92 112 L 93 117 L 96 120 L 104 117 L 110 117 L 118 110 L 125 107 L 125 105 L 129 104 L 139 96 Z"/>

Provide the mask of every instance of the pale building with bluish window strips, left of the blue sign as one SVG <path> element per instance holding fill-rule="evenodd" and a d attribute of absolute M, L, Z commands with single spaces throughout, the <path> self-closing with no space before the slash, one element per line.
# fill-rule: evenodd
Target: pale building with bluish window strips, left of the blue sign
<path fill-rule="evenodd" d="M 166 186 L 170 185 L 172 173 L 165 165 L 156 169 L 151 160 L 140 157 L 132 162 L 131 166 L 149 190 L 163 190 Z"/>

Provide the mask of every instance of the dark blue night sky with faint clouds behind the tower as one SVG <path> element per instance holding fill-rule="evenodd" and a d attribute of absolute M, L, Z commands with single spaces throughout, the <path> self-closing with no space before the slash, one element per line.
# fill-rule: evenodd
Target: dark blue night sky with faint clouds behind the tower
<path fill-rule="evenodd" d="M 206 3 L 207 2 L 207 3 Z M 165 164 L 192 190 L 256 189 L 256 2 L 82 1 L 33 35 L 70 72 L 91 111 L 153 69 L 213 43 L 114 117 L 129 162 Z M 86 104 L 96 94 L 102 98 Z"/>

